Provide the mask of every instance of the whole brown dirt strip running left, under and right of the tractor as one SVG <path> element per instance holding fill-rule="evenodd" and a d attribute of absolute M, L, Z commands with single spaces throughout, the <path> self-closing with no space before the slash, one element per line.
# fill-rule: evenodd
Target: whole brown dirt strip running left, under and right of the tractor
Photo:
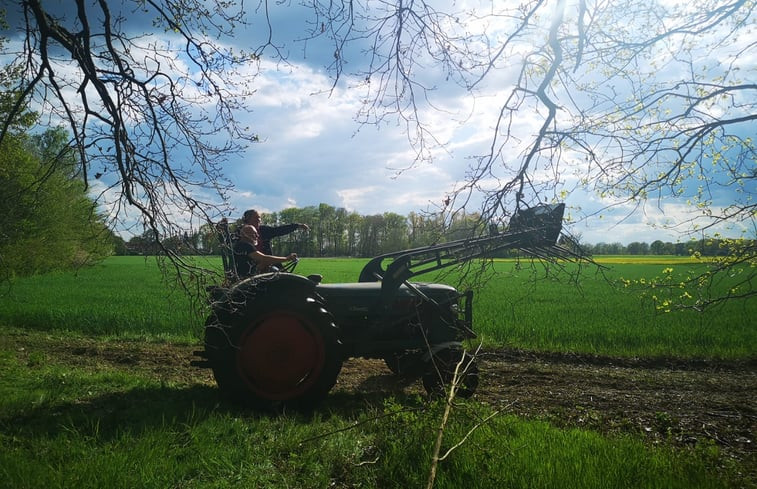
<path fill-rule="evenodd" d="M 214 384 L 209 370 L 189 365 L 194 346 L 62 343 L 36 335 L 0 343 L 21 357 L 37 351 L 56 363 L 128 366 L 167 382 Z M 744 464 L 747 479 L 757 481 L 757 361 L 643 361 L 508 350 L 480 353 L 479 367 L 476 399 L 506 413 L 607 434 L 642 433 L 651 443 L 711 441 Z M 423 392 L 420 382 L 400 382 L 382 361 L 366 359 L 345 363 L 335 391 Z"/>

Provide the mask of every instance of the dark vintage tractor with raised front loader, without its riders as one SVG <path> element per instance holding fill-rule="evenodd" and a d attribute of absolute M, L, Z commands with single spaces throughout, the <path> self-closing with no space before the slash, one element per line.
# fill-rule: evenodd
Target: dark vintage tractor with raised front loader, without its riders
<path fill-rule="evenodd" d="M 473 292 L 410 279 L 503 249 L 554 256 L 563 251 L 564 208 L 540 205 L 516 213 L 506 232 L 378 256 L 357 283 L 274 272 L 212 287 L 205 348 L 192 363 L 211 368 L 224 394 L 260 409 L 313 407 L 354 357 L 383 359 L 429 393 L 457 371 L 458 395 L 470 396 L 478 368 L 463 341 L 475 337 Z M 224 256 L 233 274 L 231 260 Z"/>

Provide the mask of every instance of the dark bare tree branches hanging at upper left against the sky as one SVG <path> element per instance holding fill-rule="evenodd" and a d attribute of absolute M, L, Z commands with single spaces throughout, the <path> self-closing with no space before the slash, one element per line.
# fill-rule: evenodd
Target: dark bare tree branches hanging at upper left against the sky
<path fill-rule="evenodd" d="M 109 182 L 102 197 L 113 222 L 136 208 L 160 239 L 180 230 L 179 213 L 199 224 L 223 212 L 231 186 L 221 165 L 256 141 L 237 123 L 251 78 L 236 74 L 254 68 L 257 56 L 211 40 L 232 35 L 242 18 L 230 4 L 147 0 L 113 12 L 114 5 L 76 0 L 75 13 L 61 17 L 40 0 L 20 3 L 22 95 L 0 140 L 22 100 L 31 100 L 50 123 L 68 126 L 85 184 L 92 174 Z M 169 44 L 128 32 L 126 15 L 153 16 L 155 28 L 171 33 Z"/>

